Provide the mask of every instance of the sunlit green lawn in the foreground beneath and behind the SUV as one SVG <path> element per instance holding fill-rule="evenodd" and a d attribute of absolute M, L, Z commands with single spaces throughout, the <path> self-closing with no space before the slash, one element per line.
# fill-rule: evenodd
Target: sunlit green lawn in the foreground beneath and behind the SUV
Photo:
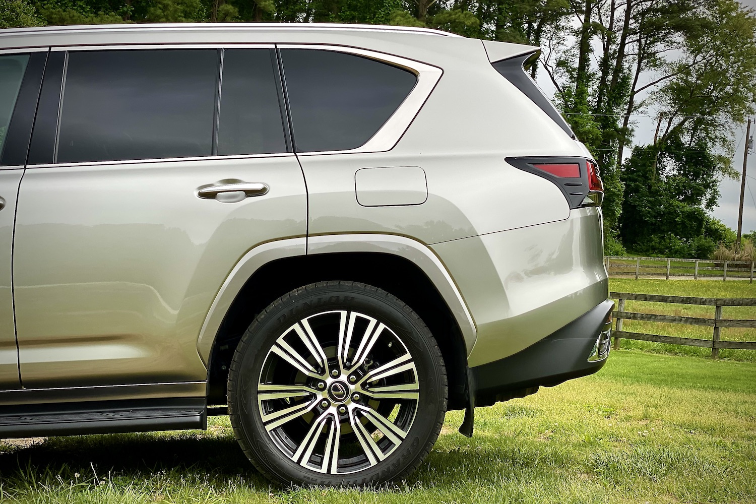
<path fill-rule="evenodd" d="M 0 502 L 756 502 L 754 363 L 618 351 L 476 416 L 468 439 L 449 413 L 420 470 L 378 489 L 271 488 L 225 418 L 0 444 Z"/>

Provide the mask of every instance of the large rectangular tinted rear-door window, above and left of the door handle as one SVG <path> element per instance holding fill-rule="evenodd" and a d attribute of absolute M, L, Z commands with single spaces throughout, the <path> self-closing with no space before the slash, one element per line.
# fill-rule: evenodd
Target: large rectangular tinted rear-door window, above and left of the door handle
<path fill-rule="evenodd" d="M 211 155 L 219 60 L 214 49 L 70 53 L 57 162 Z"/>

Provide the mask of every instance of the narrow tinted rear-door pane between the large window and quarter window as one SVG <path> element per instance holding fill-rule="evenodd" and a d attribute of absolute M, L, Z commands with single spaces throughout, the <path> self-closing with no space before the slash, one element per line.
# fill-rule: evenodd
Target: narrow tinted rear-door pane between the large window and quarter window
<path fill-rule="evenodd" d="M 286 152 L 270 49 L 223 53 L 218 155 Z"/>

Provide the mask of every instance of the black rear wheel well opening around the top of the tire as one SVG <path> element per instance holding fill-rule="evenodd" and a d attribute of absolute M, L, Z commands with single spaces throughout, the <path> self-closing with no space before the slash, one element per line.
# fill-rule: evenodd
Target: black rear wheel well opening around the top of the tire
<path fill-rule="evenodd" d="M 417 245 L 427 250 L 422 244 Z M 438 277 L 438 273 L 435 273 L 435 276 Z M 206 351 L 204 358 L 208 365 L 209 404 L 225 404 L 225 388 L 231 358 L 243 332 L 256 315 L 272 301 L 293 289 L 327 280 L 349 280 L 378 287 L 395 295 L 416 311 L 441 348 L 448 373 L 449 409 L 464 407 L 466 355 L 469 348 L 472 348 L 469 342 L 472 319 L 468 314 L 469 325 L 464 321 L 460 323 L 459 317 L 455 317 L 454 309 L 450 308 L 450 303 L 439 292 L 429 274 L 423 271 L 416 261 L 390 252 L 322 252 L 290 255 L 275 258 L 257 267 L 228 303 L 222 322 L 212 332 L 212 342 L 209 341 L 209 329 L 212 328 L 207 320 L 203 326 L 198 350 L 200 354 L 203 353 L 203 348 Z M 228 283 L 227 281 L 226 284 Z M 448 286 L 441 287 L 448 289 Z M 218 296 L 222 295 L 223 292 L 218 293 Z M 458 299 L 458 302 L 463 302 L 461 297 Z M 218 303 L 217 299 L 213 304 L 214 307 L 221 305 L 224 303 Z M 459 307 L 455 308 L 458 315 Z M 463 309 L 466 311 L 466 308 Z M 218 317 L 218 314 L 215 314 L 215 317 Z M 212 313 L 208 315 L 208 320 L 211 318 Z M 472 341 L 474 342 L 474 332 Z"/>

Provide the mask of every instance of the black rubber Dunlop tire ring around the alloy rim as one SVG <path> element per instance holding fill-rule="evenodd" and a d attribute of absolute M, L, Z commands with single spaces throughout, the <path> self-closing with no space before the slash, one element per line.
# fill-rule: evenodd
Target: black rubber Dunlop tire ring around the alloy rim
<path fill-rule="evenodd" d="M 350 287 L 343 283 L 330 284 L 297 289 L 280 305 L 271 305 L 269 308 L 272 309 L 266 310 L 249 326 L 237 348 L 240 365 L 235 373 L 232 366 L 229 376 L 229 380 L 234 380 L 228 397 L 231 422 L 234 430 L 240 431 L 237 438 L 247 445 L 245 448 L 284 484 L 349 485 L 391 481 L 414 468 L 418 457 L 424 456 L 426 446 L 438 437 L 446 410 L 443 360 L 423 321 L 397 298 L 361 284 Z M 355 289 L 355 286 L 363 288 Z M 358 311 L 375 317 L 392 329 L 414 360 L 420 386 L 417 412 L 407 438 L 383 461 L 345 475 L 325 475 L 310 470 L 282 453 L 265 430 L 257 406 L 260 372 L 274 342 L 297 321 L 334 310 Z"/>

